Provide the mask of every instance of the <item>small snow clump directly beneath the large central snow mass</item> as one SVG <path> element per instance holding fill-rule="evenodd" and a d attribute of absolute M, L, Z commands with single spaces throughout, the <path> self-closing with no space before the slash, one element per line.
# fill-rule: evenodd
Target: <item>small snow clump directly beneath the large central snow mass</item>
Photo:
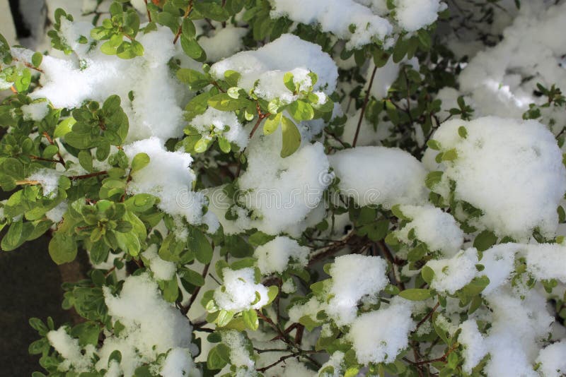
<path fill-rule="evenodd" d="M 270 275 L 283 273 L 289 265 L 306 267 L 308 252 L 307 247 L 300 246 L 294 239 L 275 237 L 267 244 L 258 246 L 253 256 L 258 259 L 258 268 L 262 275 Z"/>

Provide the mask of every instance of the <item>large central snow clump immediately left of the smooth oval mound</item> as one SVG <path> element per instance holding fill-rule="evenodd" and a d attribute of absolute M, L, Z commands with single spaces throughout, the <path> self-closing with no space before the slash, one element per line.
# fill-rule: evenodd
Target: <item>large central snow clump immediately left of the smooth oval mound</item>
<path fill-rule="evenodd" d="M 267 234 L 302 232 L 309 213 L 318 207 L 331 183 L 328 159 L 320 143 L 305 143 L 294 154 L 282 158 L 281 130 L 258 136 L 248 146 L 248 167 L 238 178 L 241 205 L 253 211 L 251 221 L 238 217 L 241 229 L 256 227 Z M 299 232 L 299 234 L 300 234 Z M 293 235 L 293 234 L 291 234 Z"/>

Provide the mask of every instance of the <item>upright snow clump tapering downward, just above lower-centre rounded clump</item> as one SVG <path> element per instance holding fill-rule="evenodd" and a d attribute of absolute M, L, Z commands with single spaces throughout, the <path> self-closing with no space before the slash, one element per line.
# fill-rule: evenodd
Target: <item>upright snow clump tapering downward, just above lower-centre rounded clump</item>
<path fill-rule="evenodd" d="M 360 300 L 376 300 L 389 280 L 387 263 L 379 256 L 349 254 L 339 256 L 330 267 L 332 285 L 326 312 L 337 325 L 348 325 L 357 316 Z"/>

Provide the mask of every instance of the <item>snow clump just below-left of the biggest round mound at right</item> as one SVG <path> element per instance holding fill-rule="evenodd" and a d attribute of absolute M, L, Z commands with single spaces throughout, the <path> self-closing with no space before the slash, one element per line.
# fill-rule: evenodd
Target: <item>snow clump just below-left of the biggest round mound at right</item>
<path fill-rule="evenodd" d="M 463 232 L 449 213 L 432 205 L 400 205 L 399 210 L 411 220 L 397 233 L 410 244 L 407 237 L 415 229 L 415 237 L 427 244 L 430 251 L 441 251 L 444 256 L 454 256 L 463 244 Z"/>

